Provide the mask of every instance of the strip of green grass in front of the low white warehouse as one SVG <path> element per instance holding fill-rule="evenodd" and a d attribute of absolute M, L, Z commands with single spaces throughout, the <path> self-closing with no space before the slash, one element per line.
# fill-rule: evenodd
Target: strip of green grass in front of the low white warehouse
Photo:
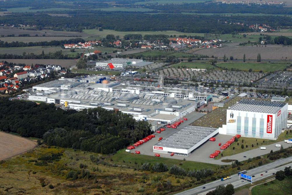
<path fill-rule="evenodd" d="M 161 158 L 155 156 L 147 156 L 147 155 L 140 155 L 140 154 L 130 154 L 125 152 L 123 149 L 119 150 L 117 154 L 114 154 L 111 159 L 116 162 L 117 164 L 126 165 L 126 166 L 135 166 L 135 162 L 137 162 L 136 166 L 141 166 L 141 163 L 165 163 L 168 167 L 173 165 L 180 166 L 185 170 L 190 169 L 202 169 L 202 168 L 211 168 L 216 169 L 218 165 L 209 164 L 209 163 L 199 163 L 194 161 L 182 161 L 177 159 L 168 159 L 168 158 Z M 125 161 L 125 162 L 124 162 Z M 182 165 L 179 165 L 182 163 Z"/>

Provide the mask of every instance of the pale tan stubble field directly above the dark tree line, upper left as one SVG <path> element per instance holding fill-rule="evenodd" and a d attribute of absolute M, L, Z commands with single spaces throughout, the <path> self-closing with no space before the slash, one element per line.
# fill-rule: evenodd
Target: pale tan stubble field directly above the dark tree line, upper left
<path fill-rule="evenodd" d="M 62 40 L 68 40 L 68 39 L 75 39 L 77 37 L 71 37 L 71 36 L 6 36 L 1 37 L 1 41 L 7 41 L 8 43 L 11 43 L 12 41 L 19 41 L 19 42 L 39 42 L 39 41 L 62 41 Z M 84 38 L 84 37 L 80 37 Z"/>

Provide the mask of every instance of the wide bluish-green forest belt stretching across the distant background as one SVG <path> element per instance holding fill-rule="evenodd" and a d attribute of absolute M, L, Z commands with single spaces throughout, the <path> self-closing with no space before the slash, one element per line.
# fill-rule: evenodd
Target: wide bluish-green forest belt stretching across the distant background
<path fill-rule="evenodd" d="M 36 29 L 82 31 L 86 29 L 112 29 L 117 31 L 163 31 L 226 34 L 249 32 L 244 24 L 265 23 L 271 27 L 292 26 L 292 18 L 284 16 L 220 16 L 220 15 L 176 15 L 176 14 L 137 14 L 103 11 L 62 11 L 72 17 L 56 17 L 47 14 L 23 13 L 0 16 L 0 23 L 36 25 Z"/>

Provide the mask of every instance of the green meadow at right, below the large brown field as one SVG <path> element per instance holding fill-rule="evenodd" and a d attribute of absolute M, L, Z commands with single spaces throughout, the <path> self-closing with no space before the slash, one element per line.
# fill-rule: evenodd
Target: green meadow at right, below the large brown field
<path fill-rule="evenodd" d="M 220 63 L 216 64 L 218 67 L 239 69 L 243 71 L 248 71 L 252 69 L 253 71 L 264 71 L 264 72 L 274 72 L 277 70 L 283 70 L 289 64 L 286 63 Z"/>

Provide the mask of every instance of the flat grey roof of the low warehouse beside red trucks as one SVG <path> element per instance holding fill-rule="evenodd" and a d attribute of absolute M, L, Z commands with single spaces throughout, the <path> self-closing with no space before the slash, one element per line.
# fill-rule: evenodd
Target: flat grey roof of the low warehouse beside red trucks
<path fill-rule="evenodd" d="M 217 130 L 217 128 L 186 126 L 169 137 L 164 138 L 154 146 L 190 149 L 215 130 Z"/>

